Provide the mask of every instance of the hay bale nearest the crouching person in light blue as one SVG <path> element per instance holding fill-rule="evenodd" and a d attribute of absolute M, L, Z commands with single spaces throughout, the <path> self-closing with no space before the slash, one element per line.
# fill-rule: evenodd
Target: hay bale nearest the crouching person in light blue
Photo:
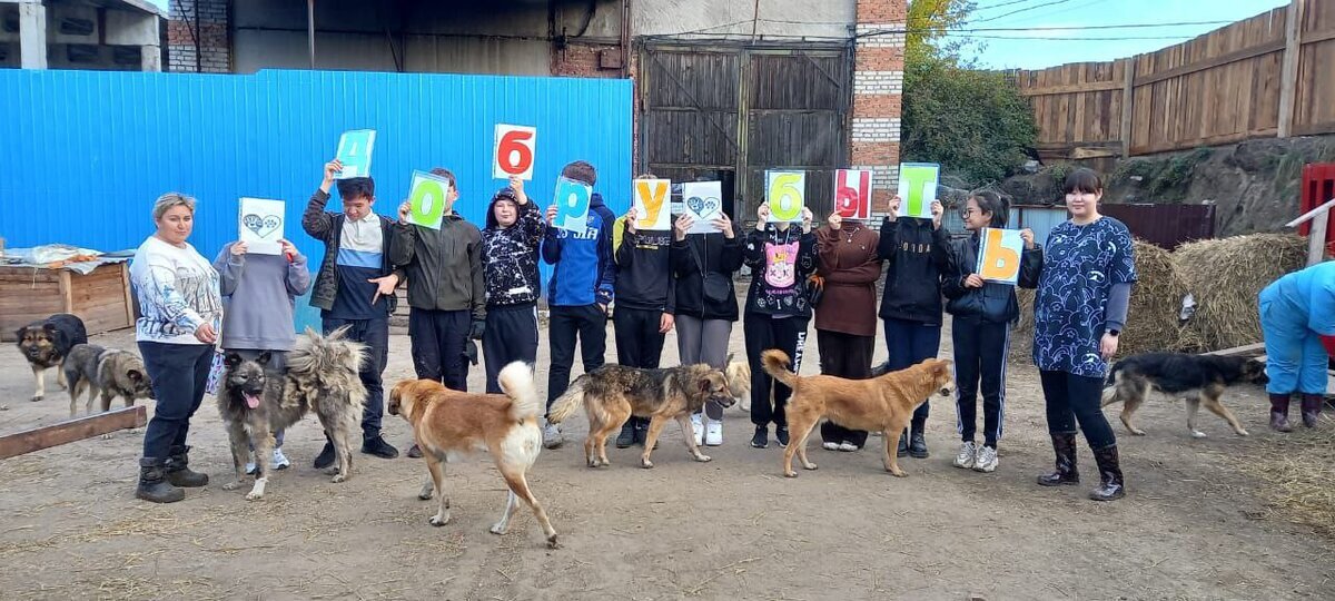
<path fill-rule="evenodd" d="M 1250 234 L 1183 244 L 1172 254 L 1196 298 L 1187 322 L 1195 351 L 1216 351 L 1262 341 L 1256 295 L 1282 275 L 1307 264 L 1307 239 L 1295 234 Z"/>

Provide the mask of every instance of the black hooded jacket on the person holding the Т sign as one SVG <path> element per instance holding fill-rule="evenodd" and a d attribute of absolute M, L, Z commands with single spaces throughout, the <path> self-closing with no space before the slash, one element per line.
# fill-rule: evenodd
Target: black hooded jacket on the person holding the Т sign
<path fill-rule="evenodd" d="M 951 236 L 930 219 L 881 222 L 877 252 L 886 262 L 881 319 L 941 325 L 941 276 L 951 268 Z"/>

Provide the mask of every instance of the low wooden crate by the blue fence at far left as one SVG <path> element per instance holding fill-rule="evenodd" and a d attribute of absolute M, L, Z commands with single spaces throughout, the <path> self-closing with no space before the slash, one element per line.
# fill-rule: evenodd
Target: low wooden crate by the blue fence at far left
<path fill-rule="evenodd" d="M 88 275 L 69 270 L 0 266 L 0 341 L 55 313 L 79 315 L 88 334 L 135 325 L 129 263 L 108 263 Z"/>

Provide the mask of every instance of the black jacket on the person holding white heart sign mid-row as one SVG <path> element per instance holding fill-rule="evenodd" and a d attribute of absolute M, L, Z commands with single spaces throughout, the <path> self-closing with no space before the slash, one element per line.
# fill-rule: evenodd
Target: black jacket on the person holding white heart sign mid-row
<path fill-rule="evenodd" d="M 688 235 L 672 243 L 672 272 L 677 280 L 677 315 L 697 319 L 737 321 L 737 295 L 729 294 L 721 302 L 705 298 L 705 275 L 722 275 L 728 282 L 742 267 L 742 235 L 733 224 L 733 238 L 717 234 Z M 704 271 L 701 271 L 704 268 Z"/>

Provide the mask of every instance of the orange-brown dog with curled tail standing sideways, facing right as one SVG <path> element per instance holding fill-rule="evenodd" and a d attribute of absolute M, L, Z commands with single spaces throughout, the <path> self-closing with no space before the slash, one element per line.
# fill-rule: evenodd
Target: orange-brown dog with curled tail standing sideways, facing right
<path fill-rule="evenodd" d="M 793 441 L 784 450 L 784 475 L 789 478 L 797 477 L 793 471 L 794 453 L 802 467 L 816 469 L 816 463 L 806 461 L 806 437 L 822 417 L 844 427 L 884 433 L 885 470 L 901 478 L 908 475 L 900 469 L 894 453 L 904 426 L 929 395 L 939 393 L 949 397 L 955 390 L 951 362 L 944 359 L 926 359 L 872 379 L 833 375 L 802 378 L 788 370 L 788 355 L 777 349 L 765 351 L 761 361 L 766 374 L 793 389 L 786 409 Z"/>

